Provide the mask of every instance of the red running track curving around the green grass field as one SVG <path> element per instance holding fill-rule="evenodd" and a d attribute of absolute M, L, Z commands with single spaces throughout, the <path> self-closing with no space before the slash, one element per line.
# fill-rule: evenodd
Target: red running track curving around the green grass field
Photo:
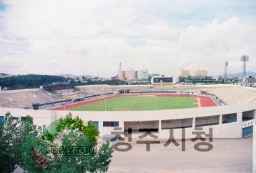
<path fill-rule="evenodd" d="M 143 94 L 141 94 L 143 95 Z M 83 106 L 83 105 L 88 105 L 90 103 L 96 103 L 98 101 L 104 101 L 105 99 L 113 99 L 115 97 L 130 97 L 130 96 L 141 96 L 141 95 L 114 95 L 114 96 L 109 96 L 109 97 L 104 97 L 104 98 L 100 98 L 100 99 L 94 99 L 91 101 L 84 101 L 84 102 L 80 102 L 80 103 L 74 103 L 71 105 L 65 105 L 65 110 L 66 109 L 71 109 L 73 107 L 79 107 L 79 106 Z M 144 94 L 143 96 L 147 96 L 147 94 Z M 150 96 L 150 95 L 148 95 Z M 162 95 L 156 95 L 157 97 L 181 97 L 181 95 L 177 95 L 177 94 L 162 94 Z M 191 95 L 192 97 L 197 97 L 199 98 L 198 95 Z M 186 96 L 183 96 L 186 97 Z M 214 107 L 216 106 L 216 103 L 214 103 L 214 101 L 212 101 L 212 99 L 210 97 L 205 97 L 205 96 L 200 96 L 200 105 L 201 107 Z M 195 103 L 196 107 L 199 107 L 197 101 Z M 51 110 L 64 110 L 64 107 L 56 107 L 54 109 Z"/>

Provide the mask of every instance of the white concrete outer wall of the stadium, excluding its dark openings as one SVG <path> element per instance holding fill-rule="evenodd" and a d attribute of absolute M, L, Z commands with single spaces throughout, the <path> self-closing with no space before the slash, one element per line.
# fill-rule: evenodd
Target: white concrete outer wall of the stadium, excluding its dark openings
<path fill-rule="evenodd" d="M 25 117 L 30 115 L 34 118 L 36 125 L 49 125 L 53 121 L 56 121 L 61 116 L 69 112 L 75 117 L 79 117 L 85 121 L 98 121 L 100 136 L 110 134 L 113 131 L 113 127 L 103 127 L 103 121 L 119 121 L 119 127 L 124 129 L 124 123 L 127 121 L 158 121 L 159 131 L 152 132 L 158 135 L 158 138 L 168 138 L 170 130 L 162 129 L 162 120 L 172 119 L 187 119 L 192 118 L 192 127 L 186 128 L 186 138 L 193 138 L 195 135 L 192 131 L 195 129 L 195 118 L 196 117 L 210 117 L 219 115 L 219 123 L 217 125 L 203 126 L 203 131 L 208 133 L 209 128 L 213 128 L 214 138 L 240 138 L 242 137 L 242 114 L 245 111 L 252 111 L 256 109 L 256 102 L 245 103 L 241 105 L 227 105 L 219 107 L 197 107 L 189 109 L 172 109 L 172 110 L 159 110 L 159 111 L 55 111 L 55 110 L 29 110 L 29 109 L 11 109 L 11 108 L 0 108 L 0 116 L 5 115 L 8 111 L 16 117 Z M 222 115 L 237 113 L 237 121 L 232 123 L 222 124 Z M 254 111 L 255 113 L 255 111 Z M 133 137 L 137 137 L 134 134 Z M 174 129 L 174 138 L 181 139 L 181 129 Z"/>

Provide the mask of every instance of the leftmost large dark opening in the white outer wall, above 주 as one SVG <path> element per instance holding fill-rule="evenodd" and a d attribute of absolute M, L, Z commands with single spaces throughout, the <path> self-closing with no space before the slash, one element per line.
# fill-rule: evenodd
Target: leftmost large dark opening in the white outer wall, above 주
<path fill-rule="evenodd" d="M 132 133 L 143 133 L 146 131 L 159 131 L 159 121 L 125 121 L 124 122 L 125 133 L 128 133 L 128 129 L 131 128 Z"/>

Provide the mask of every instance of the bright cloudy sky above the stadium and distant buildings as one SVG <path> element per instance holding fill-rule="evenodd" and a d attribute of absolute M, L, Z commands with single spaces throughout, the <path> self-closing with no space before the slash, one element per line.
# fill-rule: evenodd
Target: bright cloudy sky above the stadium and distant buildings
<path fill-rule="evenodd" d="M 0 0 L 0 72 L 256 71 L 256 0 Z"/>

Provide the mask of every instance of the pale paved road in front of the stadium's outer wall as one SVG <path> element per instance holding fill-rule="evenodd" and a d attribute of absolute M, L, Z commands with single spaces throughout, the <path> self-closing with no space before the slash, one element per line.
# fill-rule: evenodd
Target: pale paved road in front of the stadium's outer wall
<path fill-rule="evenodd" d="M 198 152 L 190 140 L 185 152 L 173 143 L 152 144 L 150 152 L 146 144 L 133 143 L 129 152 L 115 151 L 108 172 L 252 172 L 252 139 L 214 139 L 210 152 Z"/>

